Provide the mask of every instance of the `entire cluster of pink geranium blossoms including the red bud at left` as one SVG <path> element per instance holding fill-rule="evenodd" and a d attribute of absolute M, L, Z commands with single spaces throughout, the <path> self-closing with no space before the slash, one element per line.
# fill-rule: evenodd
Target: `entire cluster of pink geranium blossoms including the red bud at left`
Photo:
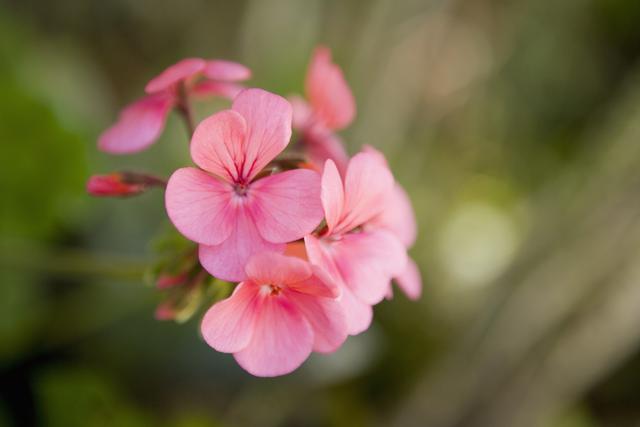
<path fill-rule="evenodd" d="M 329 49 L 313 55 L 306 100 L 243 89 L 238 82 L 249 77 L 239 64 L 183 60 L 149 82 L 148 95 L 123 111 L 99 146 L 138 151 L 157 139 L 172 109 L 189 124 L 192 98 L 232 99 L 195 127 L 195 166 L 171 175 L 165 205 L 197 244 L 200 266 L 238 283 L 204 315 L 205 341 L 256 376 L 276 376 L 365 331 L 372 307 L 392 296 L 392 281 L 420 296 L 407 256 L 416 222 L 384 156 L 365 147 L 349 158 L 336 135 L 352 122 L 355 102 Z M 292 129 L 296 143 L 283 154 Z M 111 183 L 111 195 L 137 194 L 148 185 L 113 177 L 120 175 L 92 178 L 89 192 L 108 195 Z"/>

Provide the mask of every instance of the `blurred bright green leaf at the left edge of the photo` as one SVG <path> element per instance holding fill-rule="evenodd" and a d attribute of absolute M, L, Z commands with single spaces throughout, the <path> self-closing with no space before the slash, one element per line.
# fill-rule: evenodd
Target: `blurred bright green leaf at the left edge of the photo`
<path fill-rule="evenodd" d="M 82 140 L 6 74 L 0 75 L 0 93 L 2 234 L 49 236 L 73 203 L 73 196 L 84 192 Z"/>

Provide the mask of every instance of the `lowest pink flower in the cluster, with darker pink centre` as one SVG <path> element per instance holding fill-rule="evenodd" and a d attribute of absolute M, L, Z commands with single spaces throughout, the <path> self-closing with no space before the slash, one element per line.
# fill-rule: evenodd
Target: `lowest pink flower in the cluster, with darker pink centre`
<path fill-rule="evenodd" d="M 201 330 L 253 375 L 298 368 L 311 351 L 330 353 L 347 337 L 337 286 L 318 267 L 275 253 L 255 255 L 247 279 L 207 311 Z"/>

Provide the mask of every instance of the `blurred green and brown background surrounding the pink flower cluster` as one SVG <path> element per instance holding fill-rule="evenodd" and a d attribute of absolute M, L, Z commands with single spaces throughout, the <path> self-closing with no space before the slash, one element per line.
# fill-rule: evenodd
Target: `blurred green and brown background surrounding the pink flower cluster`
<path fill-rule="evenodd" d="M 412 197 L 424 294 L 257 379 L 197 319 L 154 320 L 162 194 L 84 184 L 189 162 L 175 116 L 142 154 L 95 148 L 167 65 L 238 60 L 286 95 L 317 43 L 350 151 Z M 640 425 L 636 0 L 2 0 L 0 178 L 0 426 Z"/>

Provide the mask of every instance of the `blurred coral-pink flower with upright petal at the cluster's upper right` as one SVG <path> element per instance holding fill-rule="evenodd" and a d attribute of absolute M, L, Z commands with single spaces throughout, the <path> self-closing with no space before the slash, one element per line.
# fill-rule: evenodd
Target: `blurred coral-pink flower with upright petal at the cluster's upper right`
<path fill-rule="evenodd" d="M 332 159 L 342 172 L 349 157 L 335 131 L 347 127 L 355 116 L 353 95 L 342 70 L 331 61 L 331 51 L 316 48 L 305 82 L 307 101 L 291 99 L 294 127 L 302 132 L 302 142 L 311 161 L 322 167 Z"/>

